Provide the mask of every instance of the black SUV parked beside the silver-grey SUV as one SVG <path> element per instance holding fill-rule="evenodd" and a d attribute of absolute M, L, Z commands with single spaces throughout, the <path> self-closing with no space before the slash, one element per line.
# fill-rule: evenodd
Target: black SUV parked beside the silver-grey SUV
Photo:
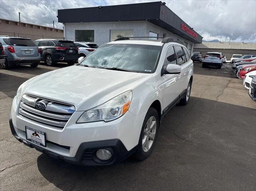
<path fill-rule="evenodd" d="M 41 51 L 41 60 L 48 66 L 57 62 L 73 65 L 78 60 L 78 47 L 70 40 L 38 39 L 34 41 Z"/>

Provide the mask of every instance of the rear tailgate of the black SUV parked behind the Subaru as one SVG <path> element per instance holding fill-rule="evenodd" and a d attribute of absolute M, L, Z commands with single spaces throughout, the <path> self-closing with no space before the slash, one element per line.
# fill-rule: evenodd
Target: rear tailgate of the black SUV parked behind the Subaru
<path fill-rule="evenodd" d="M 78 47 L 73 41 L 68 40 L 58 40 L 57 51 L 62 51 L 63 56 L 78 56 Z"/>

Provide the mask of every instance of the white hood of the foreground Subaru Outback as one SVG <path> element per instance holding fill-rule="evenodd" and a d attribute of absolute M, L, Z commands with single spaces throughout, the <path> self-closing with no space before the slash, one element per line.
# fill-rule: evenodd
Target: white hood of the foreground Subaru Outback
<path fill-rule="evenodd" d="M 22 94 L 72 104 L 77 111 L 88 110 L 132 90 L 152 74 L 70 66 L 39 75 Z"/>

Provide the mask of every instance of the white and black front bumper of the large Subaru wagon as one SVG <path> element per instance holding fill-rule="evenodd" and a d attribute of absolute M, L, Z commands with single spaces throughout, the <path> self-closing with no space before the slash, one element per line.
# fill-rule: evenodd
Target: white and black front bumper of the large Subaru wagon
<path fill-rule="evenodd" d="M 82 165 L 110 165 L 130 156 L 136 151 L 142 123 L 146 115 L 145 112 L 134 116 L 128 111 L 124 116 L 110 122 L 76 124 L 76 120 L 82 112 L 75 112 L 66 126 L 60 130 L 20 116 L 18 108 L 16 97 L 14 97 L 10 114 L 10 127 L 16 139 L 54 158 Z M 38 146 L 26 140 L 25 126 L 45 132 L 46 147 Z M 113 158 L 107 163 L 97 161 L 95 152 L 99 148 L 110 148 L 113 151 Z M 89 158 L 84 156 L 85 153 Z"/>

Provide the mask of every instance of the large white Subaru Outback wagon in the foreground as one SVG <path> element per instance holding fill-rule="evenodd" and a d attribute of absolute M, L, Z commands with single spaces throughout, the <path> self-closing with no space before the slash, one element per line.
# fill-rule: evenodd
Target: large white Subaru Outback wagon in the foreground
<path fill-rule="evenodd" d="M 186 105 L 193 80 L 188 50 L 172 38 L 106 43 L 80 63 L 23 83 L 10 128 L 26 146 L 70 163 L 146 159 L 160 121 Z"/>

